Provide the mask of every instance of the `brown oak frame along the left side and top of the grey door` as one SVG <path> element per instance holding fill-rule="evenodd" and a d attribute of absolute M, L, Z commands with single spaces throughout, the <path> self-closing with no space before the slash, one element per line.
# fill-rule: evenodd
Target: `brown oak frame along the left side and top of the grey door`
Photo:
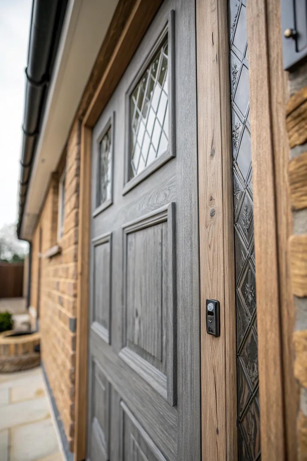
<path fill-rule="evenodd" d="M 151 24 L 162 0 L 134 1 L 133 9 L 119 35 L 98 87 L 87 102 L 81 123 L 80 200 L 78 228 L 78 281 L 77 281 L 77 343 L 75 379 L 75 443 L 74 460 L 81 461 L 87 453 L 87 348 L 89 314 L 89 247 L 91 219 L 92 131 L 121 79 L 134 52 Z M 120 21 L 118 27 L 122 27 Z M 114 34 L 109 28 L 108 38 Z M 99 64 L 99 63 L 98 63 Z M 85 97 L 87 99 L 87 95 Z"/>

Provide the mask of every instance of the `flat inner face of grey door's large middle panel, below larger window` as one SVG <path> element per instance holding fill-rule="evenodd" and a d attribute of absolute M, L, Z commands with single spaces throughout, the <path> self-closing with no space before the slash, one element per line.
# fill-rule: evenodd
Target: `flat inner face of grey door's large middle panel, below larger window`
<path fill-rule="evenodd" d="M 165 349 L 162 267 L 167 256 L 163 254 L 163 234 L 165 225 L 160 223 L 127 236 L 127 345 L 135 346 L 157 366 Z"/>

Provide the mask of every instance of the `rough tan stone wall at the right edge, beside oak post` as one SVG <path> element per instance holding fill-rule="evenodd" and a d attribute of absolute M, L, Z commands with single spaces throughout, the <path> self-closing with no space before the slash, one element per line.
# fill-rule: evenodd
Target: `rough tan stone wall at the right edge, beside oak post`
<path fill-rule="evenodd" d="M 295 378 L 300 386 L 297 417 L 298 461 L 307 460 L 307 64 L 290 73 L 286 106 L 290 143 L 289 189 L 293 235 L 289 241 L 292 293 L 295 302 Z"/>

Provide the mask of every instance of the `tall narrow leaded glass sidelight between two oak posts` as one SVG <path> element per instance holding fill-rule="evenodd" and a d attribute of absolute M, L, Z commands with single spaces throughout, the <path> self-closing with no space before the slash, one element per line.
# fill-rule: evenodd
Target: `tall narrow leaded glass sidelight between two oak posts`
<path fill-rule="evenodd" d="M 260 459 L 253 182 L 246 0 L 229 0 L 232 165 L 236 260 L 238 459 Z"/>

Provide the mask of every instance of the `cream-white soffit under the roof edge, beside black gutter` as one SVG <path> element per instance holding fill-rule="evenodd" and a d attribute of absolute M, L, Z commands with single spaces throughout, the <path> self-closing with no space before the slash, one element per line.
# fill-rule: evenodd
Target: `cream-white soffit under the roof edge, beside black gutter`
<path fill-rule="evenodd" d="M 20 237 L 31 240 L 118 0 L 69 0 L 36 148 Z"/>

